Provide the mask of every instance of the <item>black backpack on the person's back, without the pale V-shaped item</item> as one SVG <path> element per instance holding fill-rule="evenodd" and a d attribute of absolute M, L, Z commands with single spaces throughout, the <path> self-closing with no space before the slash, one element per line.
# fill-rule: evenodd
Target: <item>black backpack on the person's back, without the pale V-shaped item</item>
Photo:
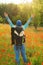
<path fill-rule="evenodd" d="M 16 45 L 22 45 L 22 43 L 24 42 L 24 35 L 23 36 L 18 36 L 14 33 L 14 31 L 17 31 L 18 34 L 20 34 L 21 31 L 23 31 L 22 27 L 15 27 L 15 28 L 11 28 L 11 39 L 12 39 L 12 44 L 16 44 Z"/>

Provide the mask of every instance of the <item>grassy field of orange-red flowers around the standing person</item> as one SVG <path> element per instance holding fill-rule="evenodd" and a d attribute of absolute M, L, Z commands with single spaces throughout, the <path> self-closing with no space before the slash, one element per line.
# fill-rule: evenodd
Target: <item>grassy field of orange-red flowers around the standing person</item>
<path fill-rule="evenodd" d="M 0 65 L 15 65 L 14 48 L 11 45 L 11 28 L 7 24 L 0 24 Z M 26 35 L 26 55 L 31 65 L 43 65 L 43 28 L 34 27 L 25 30 Z M 20 56 L 20 65 L 23 59 Z"/>

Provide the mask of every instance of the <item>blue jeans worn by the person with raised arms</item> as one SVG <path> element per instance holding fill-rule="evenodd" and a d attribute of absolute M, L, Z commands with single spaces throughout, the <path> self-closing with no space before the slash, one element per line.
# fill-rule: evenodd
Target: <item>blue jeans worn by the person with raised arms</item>
<path fill-rule="evenodd" d="M 16 57 L 16 62 L 18 63 L 18 65 L 20 63 L 20 60 L 19 60 L 20 52 L 21 52 L 21 55 L 23 57 L 24 62 L 25 63 L 27 62 L 25 47 L 24 47 L 23 44 L 22 44 L 22 46 L 14 45 L 14 51 L 15 51 L 15 55 L 16 55 L 15 56 Z"/>

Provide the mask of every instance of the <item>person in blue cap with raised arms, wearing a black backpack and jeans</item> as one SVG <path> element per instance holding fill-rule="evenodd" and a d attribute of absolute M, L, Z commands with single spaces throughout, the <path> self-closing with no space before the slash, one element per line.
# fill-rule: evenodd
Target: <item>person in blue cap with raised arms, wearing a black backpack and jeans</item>
<path fill-rule="evenodd" d="M 4 16 L 6 20 L 8 21 L 9 25 L 11 26 L 12 44 L 14 44 L 16 63 L 17 65 L 20 65 L 19 56 L 21 52 L 21 55 L 24 60 L 24 64 L 27 65 L 27 58 L 26 58 L 26 52 L 25 52 L 25 46 L 24 46 L 24 43 L 25 43 L 24 30 L 28 27 L 32 18 L 34 18 L 34 15 L 32 15 L 24 25 L 22 25 L 21 20 L 17 20 L 16 25 L 14 25 L 6 12 L 4 13 Z"/>

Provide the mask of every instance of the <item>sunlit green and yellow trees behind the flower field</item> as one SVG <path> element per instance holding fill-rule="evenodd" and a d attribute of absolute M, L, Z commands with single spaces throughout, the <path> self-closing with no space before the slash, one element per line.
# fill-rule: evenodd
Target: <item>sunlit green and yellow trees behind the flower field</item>
<path fill-rule="evenodd" d="M 8 13 L 14 24 L 18 19 L 24 24 L 31 17 L 31 14 L 35 14 L 30 25 L 35 26 L 35 28 L 43 26 L 43 0 L 33 0 L 31 4 L 0 4 L 0 23 L 6 23 L 4 12 Z"/>

